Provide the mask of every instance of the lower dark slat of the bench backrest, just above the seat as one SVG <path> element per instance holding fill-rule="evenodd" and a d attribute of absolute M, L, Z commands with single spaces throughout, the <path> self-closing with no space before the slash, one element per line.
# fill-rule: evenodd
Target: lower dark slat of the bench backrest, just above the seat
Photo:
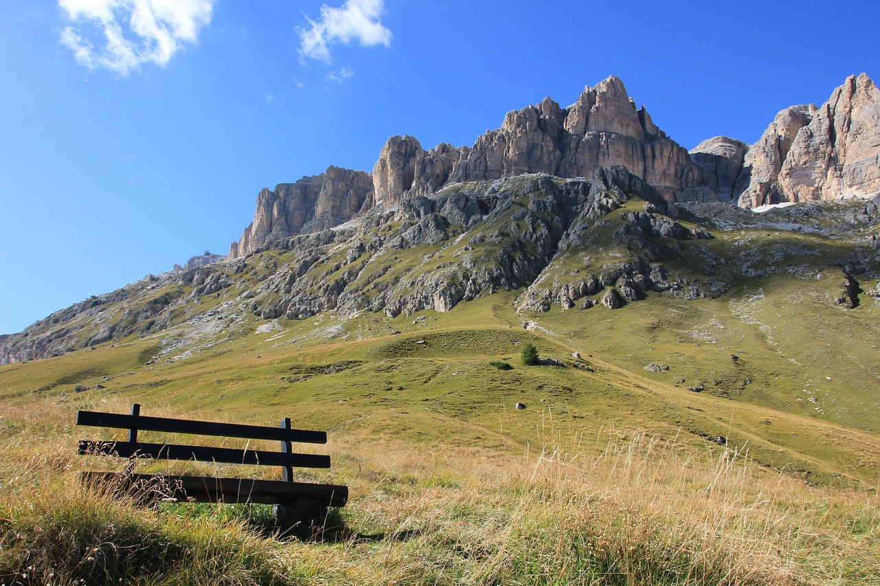
<path fill-rule="evenodd" d="M 135 456 L 166 460 L 224 462 L 227 464 L 297 466 L 299 468 L 330 467 L 330 457 L 318 454 L 285 454 L 278 451 L 234 450 L 198 445 L 80 440 L 78 451 L 80 454 L 109 454 L 120 458 Z"/>

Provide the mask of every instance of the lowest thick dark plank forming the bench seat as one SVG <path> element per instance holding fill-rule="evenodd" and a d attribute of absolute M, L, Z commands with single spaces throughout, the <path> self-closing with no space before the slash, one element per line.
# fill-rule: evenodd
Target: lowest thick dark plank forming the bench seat
<path fill-rule="evenodd" d="M 159 498 L 175 498 L 180 502 L 274 504 L 308 498 L 323 501 L 328 507 L 344 507 L 348 502 L 348 487 L 333 484 L 121 472 L 80 472 L 80 479 L 86 483 L 120 487 L 141 497 L 152 493 Z"/>

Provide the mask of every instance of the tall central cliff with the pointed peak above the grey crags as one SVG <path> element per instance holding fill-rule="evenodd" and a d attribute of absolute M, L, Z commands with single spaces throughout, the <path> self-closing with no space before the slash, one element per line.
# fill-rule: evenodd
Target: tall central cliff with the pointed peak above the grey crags
<path fill-rule="evenodd" d="M 644 106 L 635 107 L 617 77 L 588 86 L 566 108 L 546 98 L 510 112 L 501 128 L 480 136 L 473 148 L 440 144 L 423 150 L 411 136 L 392 136 L 373 169 L 373 184 L 376 201 L 394 207 L 450 183 L 526 173 L 590 178 L 614 165 L 627 167 L 670 201 L 714 200 L 700 166 L 656 127 Z"/>

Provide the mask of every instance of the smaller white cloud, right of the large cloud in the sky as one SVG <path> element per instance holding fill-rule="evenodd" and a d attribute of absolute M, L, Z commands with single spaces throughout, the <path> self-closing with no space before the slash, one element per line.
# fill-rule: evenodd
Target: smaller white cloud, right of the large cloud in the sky
<path fill-rule="evenodd" d="M 302 41 L 299 55 L 329 63 L 333 61 L 330 45 L 337 42 L 348 44 L 357 40 L 363 47 L 389 47 L 391 31 L 379 20 L 384 11 L 385 0 L 347 0 L 341 8 L 324 4 L 319 20 L 306 17 L 308 26 L 297 27 Z"/>

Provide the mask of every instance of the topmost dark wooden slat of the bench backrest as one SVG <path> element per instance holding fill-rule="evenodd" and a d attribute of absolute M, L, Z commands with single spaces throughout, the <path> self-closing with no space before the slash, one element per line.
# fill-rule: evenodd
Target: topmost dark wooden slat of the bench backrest
<path fill-rule="evenodd" d="M 248 439 L 268 439 L 302 443 L 326 443 L 326 431 L 308 429 L 269 428 L 260 425 L 240 423 L 221 423 L 216 421 L 189 421 L 169 417 L 148 417 L 101 413 L 99 411 L 77 411 L 77 425 L 90 425 L 98 428 L 140 429 L 146 431 L 166 431 L 200 436 L 246 437 Z"/>

